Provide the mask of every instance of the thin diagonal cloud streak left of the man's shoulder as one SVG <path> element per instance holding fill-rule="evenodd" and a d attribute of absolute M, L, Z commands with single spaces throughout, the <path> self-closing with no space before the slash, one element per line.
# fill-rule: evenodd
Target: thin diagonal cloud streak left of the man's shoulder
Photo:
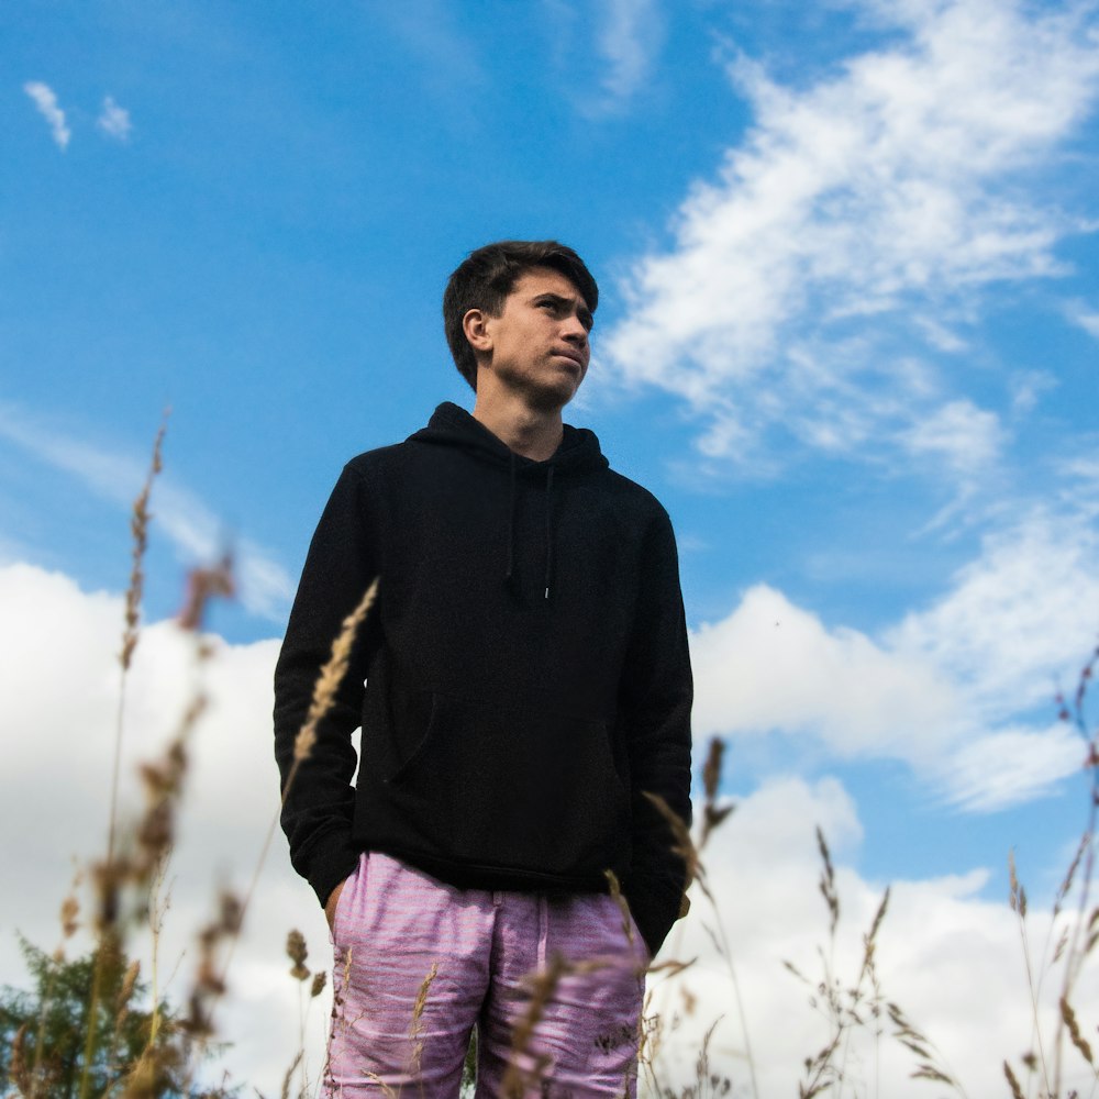
<path fill-rule="evenodd" d="M 98 496 L 127 510 L 147 471 L 147 457 L 67 436 L 10 406 L 0 404 L 0 439 L 77 477 Z M 249 539 L 230 537 L 225 524 L 170 471 L 157 479 L 151 510 L 156 526 L 167 534 L 187 565 L 209 564 L 231 548 L 241 602 L 274 622 L 284 620 L 292 585 L 269 551 Z"/>

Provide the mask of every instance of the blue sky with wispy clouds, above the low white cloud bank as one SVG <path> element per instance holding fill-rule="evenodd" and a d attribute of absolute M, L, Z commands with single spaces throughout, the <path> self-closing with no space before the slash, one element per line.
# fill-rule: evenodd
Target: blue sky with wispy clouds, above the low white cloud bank
<path fill-rule="evenodd" d="M 469 404 L 449 270 L 556 236 L 602 289 L 568 419 L 673 515 L 729 792 L 842 791 L 863 884 L 999 900 L 1013 847 L 1056 885 L 1085 803 L 1052 699 L 1099 633 L 1094 3 L 104 0 L 0 26 L 11 577 L 124 588 L 170 406 L 148 618 L 230 545 L 212 625 L 260 651 L 343 462 Z"/>

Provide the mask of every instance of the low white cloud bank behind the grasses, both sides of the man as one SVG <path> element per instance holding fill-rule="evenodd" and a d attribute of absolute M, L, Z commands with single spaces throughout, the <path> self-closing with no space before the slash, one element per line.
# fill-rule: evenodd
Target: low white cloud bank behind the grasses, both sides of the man
<path fill-rule="evenodd" d="M 101 851 L 122 601 L 81 592 L 64 576 L 14 565 L 0 568 L 0 697 L 11 733 L 0 770 L 0 803 L 19 822 L 20 835 L 18 844 L 9 845 L 5 866 L 20 888 L 5 908 L 0 983 L 20 985 L 24 976 L 14 928 L 52 948 L 70 856 L 82 859 Z M 277 807 L 269 724 L 277 644 L 211 640 L 217 652 L 207 667 L 206 687 L 212 704 L 190 746 L 162 942 L 160 972 L 175 1002 L 187 992 L 192 935 L 209 918 L 217 887 L 229 882 L 244 888 Z M 126 817 L 136 809 L 133 765 L 156 757 L 174 731 L 192 690 L 190 677 L 187 639 L 170 623 L 147 629 L 127 688 Z M 852 868 L 864 824 L 840 781 L 769 779 L 741 801 L 707 848 L 709 881 L 733 947 L 763 1096 L 795 1094 L 802 1058 L 822 1044 L 809 990 L 782 968 L 788 959 L 815 977 L 817 947 L 826 945 L 828 914 L 817 892 L 818 824 L 832 848 L 842 907 L 833 956 L 836 970 L 851 978 L 884 884 L 865 880 Z M 873 828 L 873 821 L 866 826 Z M 877 953 L 884 993 L 944 1051 L 972 1096 L 1000 1094 L 1001 1059 L 1017 1057 L 1031 1033 L 1018 929 L 1004 903 L 978 898 L 986 880 L 981 868 L 963 866 L 955 876 L 899 881 Z M 1031 934 L 1040 942 L 1045 921 L 1041 914 L 1032 914 L 1031 921 Z M 725 1018 L 711 1046 L 713 1066 L 740 1085 L 745 1080 L 736 1055 L 742 1047 L 737 1009 L 726 969 L 704 930 L 713 923 L 707 903 L 696 897 L 689 921 L 669 940 L 669 955 L 699 959 L 682 978 L 698 998 L 693 1014 L 684 1013 L 679 992 L 653 980 L 655 1009 L 682 1019 L 662 1061 L 664 1077 L 677 1084 L 693 1079 L 697 1039 L 719 1014 Z M 277 836 L 230 970 L 230 995 L 218 1013 L 221 1035 L 233 1041 L 219 1064 L 227 1064 L 236 1079 L 265 1095 L 279 1094 L 298 1042 L 297 993 L 282 954 L 290 926 L 306 933 L 310 964 L 324 966 L 323 917 L 311 891 L 290 870 Z M 134 948 L 142 946 L 135 942 Z M 1056 981 L 1046 987 L 1055 996 Z M 1086 977 L 1078 1007 L 1097 1002 L 1097 992 L 1094 977 Z M 329 1002 L 325 998 L 314 1006 L 309 1023 L 314 1076 L 322 1063 L 319 1036 Z M 1048 1018 L 1043 1007 L 1043 1019 Z M 872 1056 L 873 1045 L 862 1045 L 858 1035 L 854 1041 L 855 1059 L 848 1067 L 859 1075 L 858 1058 Z M 884 1039 L 880 1053 L 881 1094 L 890 1099 L 926 1094 L 924 1084 L 908 1079 L 912 1063 L 902 1050 Z M 675 1091 L 679 1094 L 678 1086 Z"/>

